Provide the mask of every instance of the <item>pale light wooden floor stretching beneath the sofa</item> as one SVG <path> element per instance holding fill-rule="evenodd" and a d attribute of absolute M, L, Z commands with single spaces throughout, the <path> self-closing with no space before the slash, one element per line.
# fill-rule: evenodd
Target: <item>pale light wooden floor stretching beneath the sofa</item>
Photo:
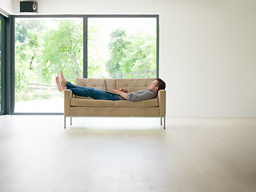
<path fill-rule="evenodd" d="M 255 192 L 256 118 L 0 117 L 0 191 Z"/>

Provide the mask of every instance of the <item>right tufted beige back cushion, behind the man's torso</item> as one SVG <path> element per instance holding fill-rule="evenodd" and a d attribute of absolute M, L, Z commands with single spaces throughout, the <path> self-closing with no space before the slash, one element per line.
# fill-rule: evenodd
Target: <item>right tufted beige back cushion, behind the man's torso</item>
<path fill-rule="evenodd" d="M 155 78 L 117 78 L 117 89 L 126 88 L 128 92 L 147 90 Z"/>

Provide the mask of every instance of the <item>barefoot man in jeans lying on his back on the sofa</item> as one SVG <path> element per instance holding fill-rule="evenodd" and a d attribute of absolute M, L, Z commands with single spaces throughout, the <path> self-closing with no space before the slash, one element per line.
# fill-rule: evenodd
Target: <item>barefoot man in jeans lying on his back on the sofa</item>
<path fill-rule="evenodd" d="M 154 82 L 150 83 L 150 87 L 148 90 L 138 90 L 128 93 L 125 88 L 120 88 L 119 90 L 110 90 L 110 92 L 107 92 L 105 90 L 98 90 L 93 87 L 75 86 L 70 82 L 66 81 L 63 76 L 62 70 L 59 71 L 59 74 L 56 77 L 56 83 L 58 86 L 58 90 L 60 91 L 71 90 L 73 94 L 78 96 L 112 101 L 128 100 L 131 102 L 138 102 L 142 100 L 152 99 L 157 97 L 158 90 L 166 89 L 166 83 L 162 81 L 161 78 L 157 78 L 156 80 L 154 80 Z"/>

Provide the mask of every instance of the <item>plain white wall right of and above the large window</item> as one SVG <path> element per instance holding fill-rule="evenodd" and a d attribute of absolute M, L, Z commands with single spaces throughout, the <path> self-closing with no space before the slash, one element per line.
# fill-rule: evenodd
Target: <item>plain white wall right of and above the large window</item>
<path fill-rule="evenodd" d="M 167 117 L 256 117 L 255 10 L 254 0 L 38 0 L 38 14 L 160 14 Z"/>

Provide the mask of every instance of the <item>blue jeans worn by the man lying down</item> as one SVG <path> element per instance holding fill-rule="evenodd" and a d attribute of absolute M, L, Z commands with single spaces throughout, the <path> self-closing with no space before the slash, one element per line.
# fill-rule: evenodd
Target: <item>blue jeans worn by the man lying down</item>
<path fill-rule="evenodd" d="M 82 97 L 90 97 L 94 99 L 111 100 L 111 101 L 122 100 L 122 98 L 118 97 L 117 94 L 112 94 L 112 93 L 106 92 L 105 90 L 97 90 L 93 87 L 75 86 L 70 82 L 66 82 L 66 89 L 71 90 L 73 94 L 82 96 Z"/>

